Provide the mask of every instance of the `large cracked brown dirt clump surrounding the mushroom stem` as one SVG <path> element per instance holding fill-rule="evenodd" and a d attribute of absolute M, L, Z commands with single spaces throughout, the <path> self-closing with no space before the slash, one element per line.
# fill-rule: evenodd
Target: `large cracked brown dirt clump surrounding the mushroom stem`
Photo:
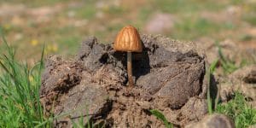
<path fill-rule="evenodd" d="M 207 113 L 206 57 L 193 43 L 160 35 L 142 35 L 142 53 L 133 53 L 136 86 L 126 88 L 126 53 L 90 37 L 76 59 L 51 56 L 46 62 L 41 102 L 53 113 L 55 127 L 164 127 L 150 113 L 158 109 L 175 125 L 187 125 Z"/>

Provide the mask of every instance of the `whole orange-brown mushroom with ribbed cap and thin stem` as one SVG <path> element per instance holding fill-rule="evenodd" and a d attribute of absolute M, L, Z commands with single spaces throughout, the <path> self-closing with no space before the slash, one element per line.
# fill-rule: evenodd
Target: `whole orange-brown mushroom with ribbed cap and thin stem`
<path fill-rule="evenodd" d="M 141 38 L 137 32 L 137 29 L 133 26 L 125 26 L 115 38 L 113 49 L 116 51 L 127 52 L 127 73 L 129 86 L 134 85 L 132 79 L 132 59 L 131 52 L 142 52 L 143 44 Z"/>

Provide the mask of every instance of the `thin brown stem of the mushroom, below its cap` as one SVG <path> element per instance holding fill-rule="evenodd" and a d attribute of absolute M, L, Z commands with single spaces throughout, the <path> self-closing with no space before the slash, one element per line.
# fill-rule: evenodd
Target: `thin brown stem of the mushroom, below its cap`
<path fill-rule="evenodd" d="M 128 73 L 129 86 L 132 87 L 134 85 L 134 83 L 133 83 L 133 79 L 132 79 L 131 51 L 127 52 L 127 73 Z"/>

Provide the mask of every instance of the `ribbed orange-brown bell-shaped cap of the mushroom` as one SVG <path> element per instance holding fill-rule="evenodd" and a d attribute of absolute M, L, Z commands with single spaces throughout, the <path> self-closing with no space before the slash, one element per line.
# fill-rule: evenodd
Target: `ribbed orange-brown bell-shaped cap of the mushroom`
<path fill-rule="evenodd" d="M 125 26 L 115 38 L 113 49 L 118 51 L 142 52 L 143 44 L 133 26 Z"/>

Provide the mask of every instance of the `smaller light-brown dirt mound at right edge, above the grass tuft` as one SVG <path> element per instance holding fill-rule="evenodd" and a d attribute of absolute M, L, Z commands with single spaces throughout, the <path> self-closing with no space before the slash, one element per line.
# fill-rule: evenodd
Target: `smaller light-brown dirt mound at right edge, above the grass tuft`
<path fill-rule="evenodd" d="M 220 100 L 229 102 L 239 91 L 247 98 L 247 102 L 256 108 L 256 65 L 241 67 L 219 83 Z"/>

